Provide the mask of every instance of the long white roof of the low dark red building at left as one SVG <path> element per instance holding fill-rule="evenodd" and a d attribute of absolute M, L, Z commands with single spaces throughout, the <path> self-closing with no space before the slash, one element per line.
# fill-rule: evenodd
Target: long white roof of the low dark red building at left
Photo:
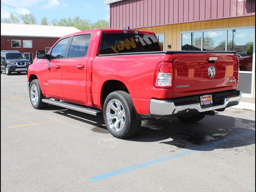
<path fill-rule="evenodd" d="M 1 23 L 1 36 L 60 38 L 79 31 L 66 26 Z"/>

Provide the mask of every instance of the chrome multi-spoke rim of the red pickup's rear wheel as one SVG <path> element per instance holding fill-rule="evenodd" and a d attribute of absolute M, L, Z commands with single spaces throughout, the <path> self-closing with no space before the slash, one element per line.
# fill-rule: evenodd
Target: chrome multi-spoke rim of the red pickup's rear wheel
<path fill-rule="evenodd" d="M 106 118 L 108 125 L 115 132 L 123 130 L 125 125 L 125 112 L 121 102 L 117 99 L 112 99 L 108 102 L 106 108 Z"/>

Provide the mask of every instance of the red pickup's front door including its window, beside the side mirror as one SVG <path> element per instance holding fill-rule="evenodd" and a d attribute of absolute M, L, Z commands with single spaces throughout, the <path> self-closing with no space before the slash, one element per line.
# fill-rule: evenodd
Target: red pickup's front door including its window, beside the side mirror
<path fill-rule="evenodd" d="M 69 38 L 60 40 L 50 53 L 50 59 L 42 62 L 42 88 L 44 93 L 58 98 L 63 98 L 61 89 L 62 61 L 65 58 Z"/>

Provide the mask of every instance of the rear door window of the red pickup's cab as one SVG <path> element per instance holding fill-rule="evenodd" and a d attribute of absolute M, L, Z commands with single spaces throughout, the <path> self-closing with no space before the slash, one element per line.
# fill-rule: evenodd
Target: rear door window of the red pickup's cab
<path fill-rule="evenodd" d="M 68 52 L 68 57 L 72 58 L 86 56 L 90 44 L 90 39 L 90 34 L 74 36 L 70 46 L 70 50 Z"/>

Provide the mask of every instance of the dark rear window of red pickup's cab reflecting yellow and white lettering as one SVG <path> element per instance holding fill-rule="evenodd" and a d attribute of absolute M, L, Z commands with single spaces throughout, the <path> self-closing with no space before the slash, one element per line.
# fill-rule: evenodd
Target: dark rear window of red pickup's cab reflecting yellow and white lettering
<path fill-rule="evenodd" d="M 156 36 L 146 34 L 103 34 L 100 54 L 160 51 Z"/>

